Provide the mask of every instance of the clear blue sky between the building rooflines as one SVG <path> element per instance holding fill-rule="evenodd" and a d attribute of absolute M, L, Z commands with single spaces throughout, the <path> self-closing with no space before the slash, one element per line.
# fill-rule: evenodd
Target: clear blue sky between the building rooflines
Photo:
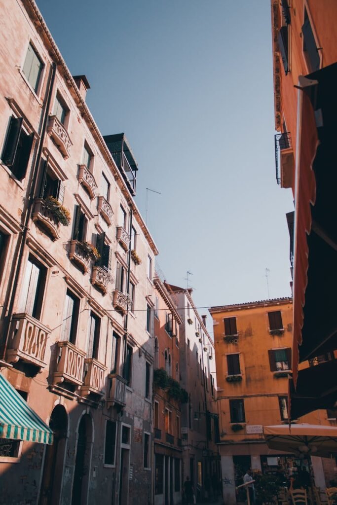
<path fill-rule="evenodd" d="M 270 1 L 37 0 L 104 135 L 125 132 L 162 270 L 197 306 L 289 296 Z M 201 310 L 201 313 L 206 310 Z M 210 320 L 210 317 L 209 317 Z"/>

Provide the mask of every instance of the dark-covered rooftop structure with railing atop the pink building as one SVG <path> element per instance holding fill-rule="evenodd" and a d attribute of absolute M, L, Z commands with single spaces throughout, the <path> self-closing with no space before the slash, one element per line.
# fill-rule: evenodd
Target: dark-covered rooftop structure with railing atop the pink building
<path fill-rule="evenodd" d="M 103 137 L 130 193 L 136 194 L 137 163 L 124 133 Z"/>

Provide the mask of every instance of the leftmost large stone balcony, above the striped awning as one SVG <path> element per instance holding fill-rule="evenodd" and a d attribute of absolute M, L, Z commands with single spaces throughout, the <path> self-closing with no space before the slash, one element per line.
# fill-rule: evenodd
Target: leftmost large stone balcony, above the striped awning
<path fill-rule="evenodd" d="M 51 330 L 28 314 L 14 314 L 7 349 L 10 363 L 19 360 L 45 368 L 44 351 Z"/>

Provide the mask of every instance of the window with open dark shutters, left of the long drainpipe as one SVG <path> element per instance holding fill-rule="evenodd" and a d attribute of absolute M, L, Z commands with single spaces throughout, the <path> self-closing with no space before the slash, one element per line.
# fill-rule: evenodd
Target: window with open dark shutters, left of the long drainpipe
<path fill-rule="evenodd" d="M 24 179 L 33 145 L 34 133 L 27 135 L 22 118 L 11 117 L 1 159 L 18 180 Z"/>

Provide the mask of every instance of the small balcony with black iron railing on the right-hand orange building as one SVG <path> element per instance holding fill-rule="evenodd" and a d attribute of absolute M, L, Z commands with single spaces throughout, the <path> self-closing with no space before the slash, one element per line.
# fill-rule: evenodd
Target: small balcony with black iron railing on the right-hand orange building
<path fill-rule="evenodd" d="M 277 184 L 283 188 L 292 187 L 295 158 L 289 132 L 275 135 L 275 167 Z"/>

